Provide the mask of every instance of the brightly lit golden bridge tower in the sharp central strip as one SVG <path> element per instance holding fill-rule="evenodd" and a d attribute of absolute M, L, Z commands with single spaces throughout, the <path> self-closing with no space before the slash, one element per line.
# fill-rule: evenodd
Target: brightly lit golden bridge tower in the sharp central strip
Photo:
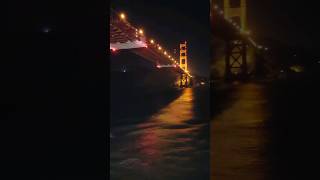
<path fill-rule="evenodd" d="M 180 67 L 188 72 L 188 56 L 187 56 L 187 41 L 180 43 Z M 188 86 L 187 74 L 181 74 L 180 76 L 180 87 Z"/>

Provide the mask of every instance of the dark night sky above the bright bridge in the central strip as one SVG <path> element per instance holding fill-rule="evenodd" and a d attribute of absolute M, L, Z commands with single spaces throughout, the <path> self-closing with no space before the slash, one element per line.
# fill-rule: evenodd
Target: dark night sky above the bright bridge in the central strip
<path fill-rule="evenodd" d="M 142 27 L 148 37 L 171 53 L 177 49 L 178 55 L 179 43 L 186 40 L 189 70 L 195 75 L 209 75 L 209 1 L 113 0 L 111 7 L 125 12 L 131 24 Z"/>

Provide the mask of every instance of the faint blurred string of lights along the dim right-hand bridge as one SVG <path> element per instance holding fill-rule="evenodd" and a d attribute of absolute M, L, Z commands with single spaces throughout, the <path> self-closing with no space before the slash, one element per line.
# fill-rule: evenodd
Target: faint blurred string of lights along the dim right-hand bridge
<path fill-rule="evenodd" d="M 258 49 L 264 49 L 265 51 L 268 51 L 269 48 L 268 47 L 264 47 L 262 45 L 258 45 L 251 37 L 251 31 L 247 30 L 247 31 L 244 31 L 244 29 L 242 29 L 240 27 L 240 25 L 238 25 L 236 22 L 234 22 L 231 18 L 227 18 L 225 16 L 225 13 L 224 11 L 218 6 L 218 5 L 214 5 L 213 8 L 218 12 L 218 14 L 220 16 L 223 16 L 223 18 L 229 22 L 236 30 L 239 31 L 240 34 L 243 34 L 243 35 L 246 35 L 249 39 L 249 41 Z"/>

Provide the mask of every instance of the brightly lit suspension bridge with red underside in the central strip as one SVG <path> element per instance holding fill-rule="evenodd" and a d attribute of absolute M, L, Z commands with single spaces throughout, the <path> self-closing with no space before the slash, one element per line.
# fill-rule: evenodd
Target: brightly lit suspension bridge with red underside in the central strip
<path fill-rule="evenodd" d="M 124 12 L 111 11 L 110 16 L 110 52 L 115 54 L 122 50 L 143 57 L 154 63 L 157 69 L 170 68 L 179 74 L 178 85 L 189 87 L 193 76 L 188 70 L 187 41 L 180 43 L 180 56 L 174 57 L 164 46 L 146 35 L 142 28 L 133 26 Z"/>

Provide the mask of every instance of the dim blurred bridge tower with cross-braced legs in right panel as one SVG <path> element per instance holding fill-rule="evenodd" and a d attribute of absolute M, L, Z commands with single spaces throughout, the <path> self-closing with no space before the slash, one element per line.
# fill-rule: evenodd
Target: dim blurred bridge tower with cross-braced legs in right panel
<path fill-rule="evenodd" d="M 244 32 L 247 30 L 246 0 L 224 0 L 224 15 L 238 24 Z M 247 76 L 247 44 L 238 38 L 230 39 L 226 44 L 226 79 Z"/>

